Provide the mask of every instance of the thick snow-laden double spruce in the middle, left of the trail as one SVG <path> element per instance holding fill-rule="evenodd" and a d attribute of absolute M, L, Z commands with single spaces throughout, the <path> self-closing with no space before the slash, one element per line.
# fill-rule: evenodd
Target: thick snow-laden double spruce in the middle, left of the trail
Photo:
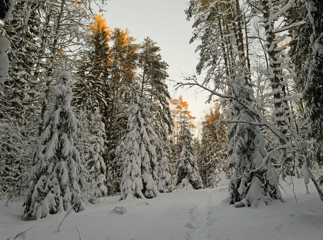
<path fill-rule="evenodd" d="M 147 102 L 140 97 L 139 87 L 130 103 L 128 115 L 129 134 L 123 153 L 121 199 L 128 194 L 137 198 L 157 196 L 157 158 L 152 128 L 151 112 Z"/>

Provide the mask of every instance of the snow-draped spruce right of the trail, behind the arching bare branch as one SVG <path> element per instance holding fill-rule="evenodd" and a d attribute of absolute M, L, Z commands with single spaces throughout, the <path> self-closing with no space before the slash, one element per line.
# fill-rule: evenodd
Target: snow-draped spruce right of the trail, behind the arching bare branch
<path fill-rule="evenodd" d="M 253 93 L 245 85 L 243 72 L 235 69 L 233 91 L 239 101 L 235 100 L 232 105 L 236 122 L 228 132 L 229 165 L 235 166 L 228 188 L 230 204 L 235 207 L 257 206 L 261 199 L 282 198 L 277 188 L 278 174 L 266 159 L 266 140 L 261 136 L 259 126 L 251 123 L 255 122 L 256 116 L 246 107 L 251 105 Z"/>

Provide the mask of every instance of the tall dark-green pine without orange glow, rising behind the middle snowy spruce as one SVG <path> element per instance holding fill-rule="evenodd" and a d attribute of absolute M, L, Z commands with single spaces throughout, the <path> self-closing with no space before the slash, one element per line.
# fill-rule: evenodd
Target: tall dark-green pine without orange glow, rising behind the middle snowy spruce
<path fill-rule="evenodd" d="M 151 121 L 157 134 L 156 156 L 162 158 L 163 151 L 169 149 L 168 136 L 172 132 L 173 119 L 169 107 L 170 94 L 166 79 L 168 64 L 162 60 L 160 48 L 151 38 L 144 38 L 139 45 L 137 80 L 141 85 L 141 97 L 149 104 Z"/>

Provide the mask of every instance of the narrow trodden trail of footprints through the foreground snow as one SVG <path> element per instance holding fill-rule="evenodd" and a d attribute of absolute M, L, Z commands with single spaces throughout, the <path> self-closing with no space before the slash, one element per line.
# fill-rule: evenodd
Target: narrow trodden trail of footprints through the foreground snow
<path fill-rule="evenodd" d="M 200 204 L 193 205 L 193 208 L 190 209 L 190 220 L 185 223 L 187 228 L 185 240 L 214 239 L 212 234 L 215 232 L 213 228 L 216 214 L 211 207 L 211 202 L 210 195 L 203 194 L 200 197 Z"/>

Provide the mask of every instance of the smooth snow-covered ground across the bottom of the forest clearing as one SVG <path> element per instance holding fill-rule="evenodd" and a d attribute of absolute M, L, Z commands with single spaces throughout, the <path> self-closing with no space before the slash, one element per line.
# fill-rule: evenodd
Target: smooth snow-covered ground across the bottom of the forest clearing
<path fill-rule="evenodd" d="M 162 193 L 153 199 L 106 197 L 100 204 L 88 204 L 70 213 L 57 232 L 65 213 L 36 221 L 21 218 L 22 200 L 0 201 L 0 240 L 322 240 L 323 203 L 309 184 L 294 178 L 293 185 L 281 181 L 284 202 L 260 204 L 257 208 L 234 208 L 220 188 Z M 286 186 L 285 186 L 286 185 Z M 123 206 L 128 213 L 117 213 Z M 77 228 L 77 229 L 76 229 Z M 78 235 L 79 232 L 79 235 Z M 17 239 L 19 239 L 19 237 Z"/>

